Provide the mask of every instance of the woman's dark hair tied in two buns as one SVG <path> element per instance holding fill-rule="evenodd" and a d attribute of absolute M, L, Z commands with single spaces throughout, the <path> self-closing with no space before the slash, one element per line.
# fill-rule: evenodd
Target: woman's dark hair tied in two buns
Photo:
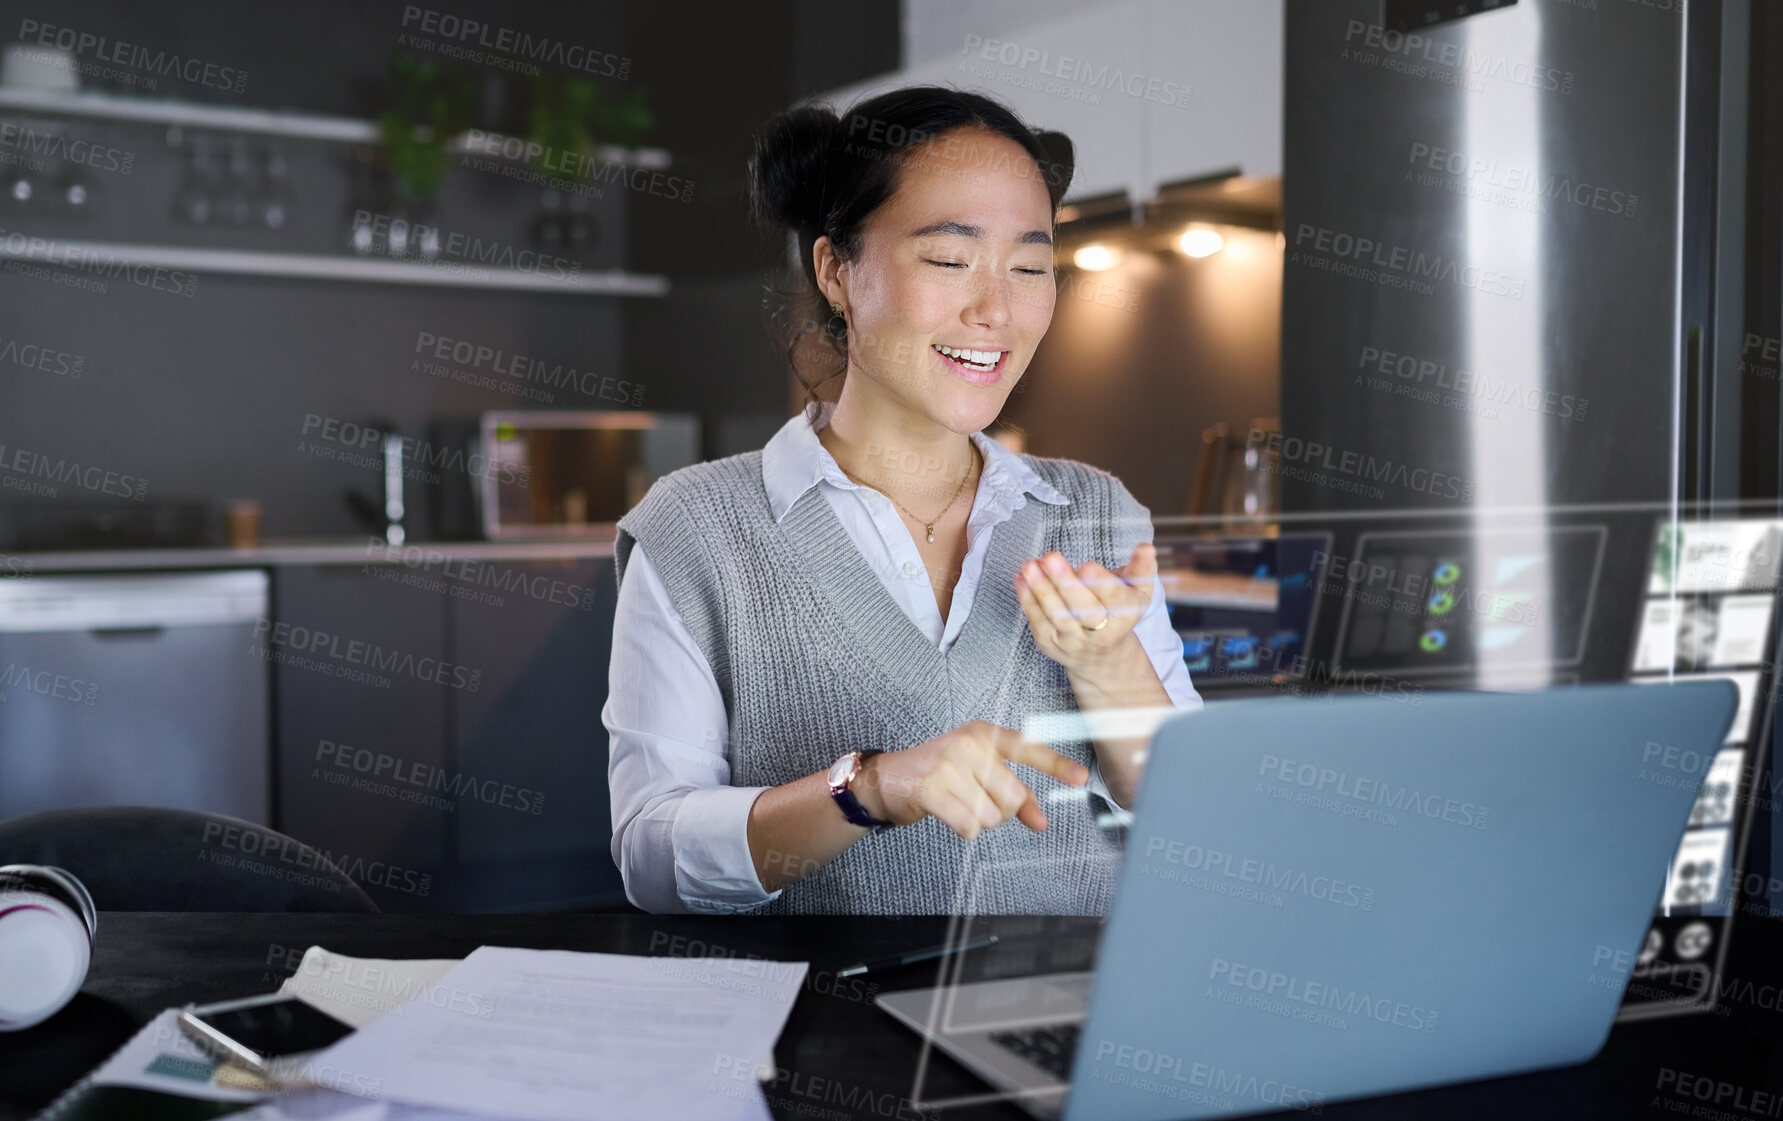
<path fill-rule="evenodd" d="M 849 369 L 847 339 L 829 337 L 829 303 L 817 287 L 811 246 L 829 237 L 842 260 L 854 260 L 861 226 L 899 187 L 902 157 L 956 128 L 984 128 L 1020 144 L 1039 169 L 1057 212 L 1072 184 L 1075 150 L 1063 132 L 1038 132 L 1004 103 L 945 86 L 906 86 L 859 102 L 840 118 L 827 105 L 776 114 L 756 134 L 749 160 L 751 201 L 765 228 L 797 235 L 802 278 L 788 289 L 768 289 L 770 331 L 786 348 L 786 364 L 806 389 L 806 406 L 817 387 Z M 801 348 L 818 342 L 815 362 L 801 362 Z M 817 380 L 806 378 L 806 367 Z"/>

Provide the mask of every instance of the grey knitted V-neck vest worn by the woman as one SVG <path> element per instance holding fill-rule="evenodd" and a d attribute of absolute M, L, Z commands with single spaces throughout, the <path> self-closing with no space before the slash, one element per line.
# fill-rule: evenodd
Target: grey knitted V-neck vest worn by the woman
<path fill-rule="evenodd" d="M 1075 711 L 1011 581 L 1048 549 L 1073 565 L 1125 565 L 1152 538 L 1150 511 L 1100 469 L 1022 458 L 1072 503 L 1029 497 L 991 531 L 947 652 L 886 593 L 817 487 L 774 522 L 760 451 L 667 474 L 620 519 L 617 579 L 640 542 L 717 677 L 733 786 L 779 786 L 843 752 L 913 747 L 974 718 L 1020 729 L 1032 713 Z M 1088 741 L 1054 747 L 1091 761 Z M 1120 859 L 1095 822 L 1105 806 L 1032 768 L 1016 773 L 1047 811 L 1045 832 L 1007 822 L 966 843 L 925 818 L 868 834 L 754 914 L 1105 914 Z"/>

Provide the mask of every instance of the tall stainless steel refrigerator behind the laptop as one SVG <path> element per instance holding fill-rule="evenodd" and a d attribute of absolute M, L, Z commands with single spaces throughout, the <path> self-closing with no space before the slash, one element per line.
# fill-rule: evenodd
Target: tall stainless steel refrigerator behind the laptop
<path fill-rule="evenodd" d="M 1316 675 L 1630 677 L 1674 526 L 1778 517 L 1738 501 L 1776 454 L 1751 29 L 1744 0 L 1287 0 L 1282 431 L 1252 435 L 1284 533 L 1332 533 Z M 1681 864 L 1719 895 L 1662 905 L 1630 1014 L 1713 991 L 1751 823 Z"/>

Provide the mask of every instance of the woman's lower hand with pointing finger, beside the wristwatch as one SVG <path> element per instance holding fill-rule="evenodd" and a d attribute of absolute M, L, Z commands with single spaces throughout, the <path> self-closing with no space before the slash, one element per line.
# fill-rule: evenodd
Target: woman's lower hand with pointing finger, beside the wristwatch
<path fill-rule="evenodd" d="M 927 743 L 868 756 L 852 791 L 875 818 L 911 825 L 933 814 L 966 841 L 1009 818 L 1039 832 L 1047 814 L 1009 763 L 1043 770 L 1072 786 L 1089 781 L 1088 766 L 1045 743 L 974 720 Z"/>

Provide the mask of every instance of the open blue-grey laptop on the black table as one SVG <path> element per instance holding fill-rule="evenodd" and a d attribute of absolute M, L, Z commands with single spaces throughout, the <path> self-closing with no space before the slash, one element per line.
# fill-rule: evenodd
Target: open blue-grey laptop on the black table
<path fill-rule="evenodd" d="M 1694 681 L 1173 715 L 1095 973 L 877 1003 L 1064 1121 L 1316 1109 L 1583 1062 L 1701 784 L 1676 761 L 1713 756 L 1735 700 Z"/>

